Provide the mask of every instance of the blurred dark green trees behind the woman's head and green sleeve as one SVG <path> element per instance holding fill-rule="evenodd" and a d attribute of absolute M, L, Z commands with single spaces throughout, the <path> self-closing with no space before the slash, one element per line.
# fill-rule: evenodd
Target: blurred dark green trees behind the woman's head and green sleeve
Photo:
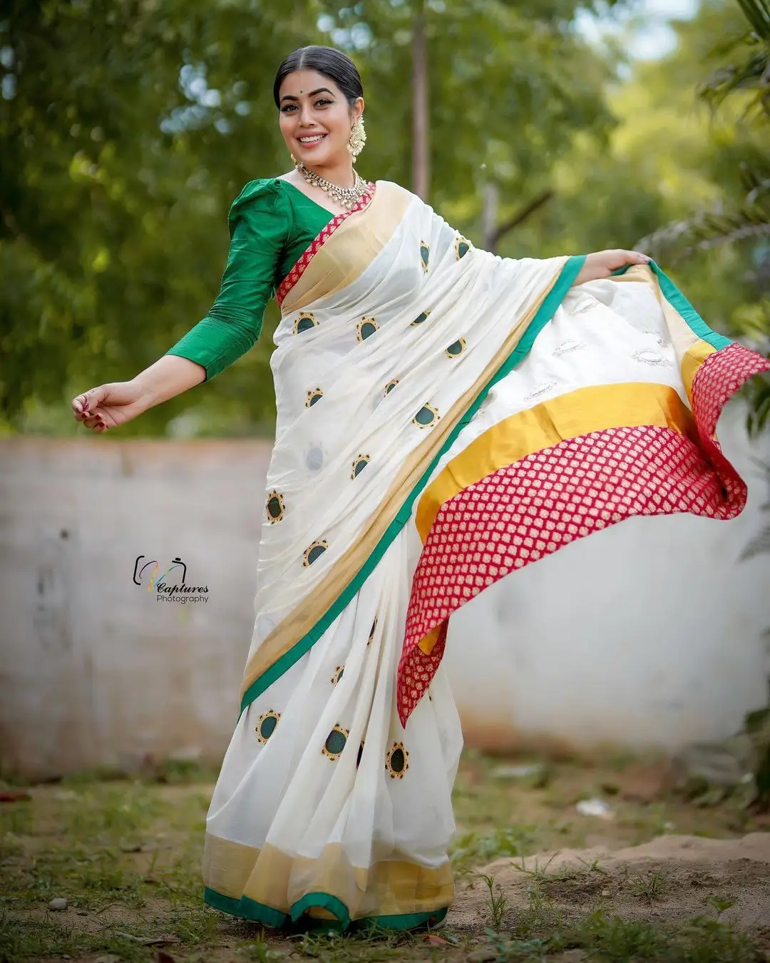
<path fill-rule="evenodd" d="M 430 0 L 431 199 L 473 227 L 549 184 L 580 130 L 602 138 L 603 58 L 576 0 Z M 244 183 L 287 169 L 271 98 L 279 60 L 313 42 L 361 65 L 362 172 L 411 183 L 407 0 L 9 0 L 0 16 L 0 430 L 71 434 L 69 398 L 133 377 L 205 314 Z M 260 343 L 132 434 L 272 429 L 269 308 Z M 170 428 L 169 428 L 170 425 Z"/>

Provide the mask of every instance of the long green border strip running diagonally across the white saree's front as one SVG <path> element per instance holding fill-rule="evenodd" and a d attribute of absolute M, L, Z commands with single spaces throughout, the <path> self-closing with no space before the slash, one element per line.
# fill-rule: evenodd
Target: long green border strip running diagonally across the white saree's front
<path fill-rule="evenodd" d="M 457 435 L 471 421 L 475 415 L 475 412 L 487 397 L 490 390 L 497 384 L 498 381 L 501 380 L 501 378 L 510 374 L 510 372 L 524 360 L 534 344 L 535 338 L 543 330 L 545 325 L 551 321 L 556 309 L 566 297 L 567 292 L 573 286 L 578 273 L 580 273 L 580 269 L 585 263 L 585 258 L 585 254 L 574 254 L 567 259 L 566 263 L 561 269 L 561 272 L 556 278 L 555 284 L 546 298 L 543 300 L 543 303 L 538 308 L 534 318 L 526 328 L 526 331 L 519 343 L 502 362 L 498 371 L 489 379 L 481 391 L 479 391 L 475 401 L 471 403 L 468 411 L 457 422 L 457 425 L 455 425 L 454 429 L 449 432 L 447 440 L 442 445 L 441 450 L 432 458 L 430 464 L 425 469 L 424 474 L 409 493 L 409 496 L 404 504 L 398 510 L 398 515 L 396 518 L 394 518 L 380 540 L 374 546 L 372 549 L 372 554 L 361 566 L 357 575 L 350 580 L 348 585 L 337 596 L 334 604 L 331 605 L 326 612 L 323 613 L 323 615 L 321 615 L 321 618 L 318 620 L 318 622 L 316 622 L 313 628 L 297 642 L 295 642 L 288 652 L 284 653 L 280 659 L 276 660 L 275 663 L 270 665 L 269 669 L 263 672 L 262 675 L 255 679 L 248 689 L 245 690 L 244 698 L 241 701 L 241 713 L 244 712 L 244 709 L 246 709 L 258 695 L 261 695 L 262 692 L 264 692 L 273 684 L 273 682 L 275 682 L 277 679 L 280 679 L 284 672 L 288 671 L 292 665 L 301 659 L 302 656 L 308 652 L 313 645 L 315 645 L 326 629 L 328 629 L 332 622 L 334 622 L 340 612 L 342 612 L 349 602 L 355 597 L 358 589 L 372 574 L 374 567 L 385 555 L 385 552 L 390 547 L 394 538 L 409 520 L 409 517 L 412 514 L 412 507 L 414 506 L 418 495 L 420 495 L 427 484 L 427 481 L 430 478 L 433 469 L 438 464 L 441 456 L 449 451 L 449 448 L 454 443 Z"/>

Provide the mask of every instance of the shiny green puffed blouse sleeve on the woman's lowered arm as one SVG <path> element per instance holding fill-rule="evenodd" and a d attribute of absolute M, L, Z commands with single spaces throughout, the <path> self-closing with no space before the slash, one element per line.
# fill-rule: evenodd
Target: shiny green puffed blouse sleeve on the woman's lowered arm
<path fill-rule="evenodd" d="M 206 317 L 166 352 L 202 365 L 207 381 L 259 337 L 290 226 L 290 211 L 280 196 L 274 180 L 257 180 L 233 201 L 230 250 L 217 299 Z"/>

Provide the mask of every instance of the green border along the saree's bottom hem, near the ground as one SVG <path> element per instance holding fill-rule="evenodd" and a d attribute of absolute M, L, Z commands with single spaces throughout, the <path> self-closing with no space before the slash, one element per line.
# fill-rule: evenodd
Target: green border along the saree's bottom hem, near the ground
<path fill-rule="evenodd" d="M 291 924 L 297 924 L 302 914 L 313 906 L 321 906 L 337 918 L 328 921 L 313 920 L 314 926 L 322 929 L 337 928 L 341 930 L 346 930 L 350 926 L 355 929 L 368 927 L 399 930 L 417 929 L 419 926 L 441 923 L 449 912 L 449 906 L 442 906 L 439 909 L 424 913 L 367 916 L 361 920 L 350 920 L 350 913 L 342 899 L 334 897 L 330 893 L 308 893 L 292 904 L 290 915 L 273 909 L 272 906 L 267 906 L 265 903 L 257 902 L 256 899 L 249 899 L 248 897 L 236 899 L 223 896 L 208 886 L 203 890 L 203 901 L 223 913 L 228 913 L 230 916 L 237 916 L 242 920 L 250 920 L 254 923 L 263 923 L 266 926 L 272 926 L 273 929 L 282 929 Z"/>

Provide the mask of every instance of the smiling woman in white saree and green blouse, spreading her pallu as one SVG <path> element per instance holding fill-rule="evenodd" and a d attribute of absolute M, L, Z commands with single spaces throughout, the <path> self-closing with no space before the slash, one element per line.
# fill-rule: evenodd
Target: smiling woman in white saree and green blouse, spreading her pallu
<path fill-rule="evenodd" d="M 737 514 L 745 487 L 714 427 L 768 365 L 643 254 L 502 259 L 364 181 L 363 91 L 342 53 L 295 51 L 273 92 L 295 169 L 234 202 L 209 315 L 72 406 L 106 431 L 214 377 L 275 292 L 256 618 L 205 898 L 274 926 L 436 924 L 462 744 L 449 614 L 629 515 Z"/>

